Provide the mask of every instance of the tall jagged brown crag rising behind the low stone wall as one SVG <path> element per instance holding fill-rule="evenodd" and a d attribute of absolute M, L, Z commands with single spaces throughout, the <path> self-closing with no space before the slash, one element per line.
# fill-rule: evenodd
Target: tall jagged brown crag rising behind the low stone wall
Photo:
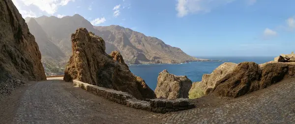
<path fill-rule="evenodd" d="M 71 35 L 72 56 L 65 68 L 65 81 L 76 79 L 92 85 L 127 92 L 137 99 L 153 99 L 145 81 L 132 74 L 118 51 L 108 55 L 101 37 L 79 28 Z"/>

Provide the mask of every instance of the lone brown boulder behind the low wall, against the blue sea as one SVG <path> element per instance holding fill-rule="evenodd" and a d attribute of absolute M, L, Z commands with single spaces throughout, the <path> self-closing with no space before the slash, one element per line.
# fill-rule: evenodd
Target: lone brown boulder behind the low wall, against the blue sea
<path fill-rule="evenodd" d="M 158 76 L 155 94 L 157 98 L 188 98 L 188 91 L 191 86 L 192 81 L 186 76 L 169 74 L 167 70 L 164 70 Z"/>

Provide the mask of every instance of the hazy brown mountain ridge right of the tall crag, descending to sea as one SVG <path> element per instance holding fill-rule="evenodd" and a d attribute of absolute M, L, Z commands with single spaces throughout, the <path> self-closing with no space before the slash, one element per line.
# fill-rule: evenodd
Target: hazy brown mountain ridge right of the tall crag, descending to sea
<path fill-rule="evenodd" d="M 183 63 L 198 60 L 162 40 L 146 36 L 140 32 L 118 25 L 94 26 L 100 36 L 119 50 L 125 60 L 131 64 L 141 63 Z M 108 49 L 107 49 L 108 51 Z"/>

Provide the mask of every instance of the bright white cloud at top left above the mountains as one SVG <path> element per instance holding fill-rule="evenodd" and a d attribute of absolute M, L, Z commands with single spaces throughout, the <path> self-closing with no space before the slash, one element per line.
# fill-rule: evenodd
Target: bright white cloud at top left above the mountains
<path fill-rule="evenodd" d="M 30 10 L 30 5 L 34 5 L 38 7 L 41 11 L 44 11 L 50 15 L 53 15 L 54 13 L 57 12 L 59 6 L 64 6 L 68 4 L 70 1 L 75 1 L 75 0 L 13 0 L 13 3 L 16 4 L 17 8 L 19 10 L 22 10 L 22 7 L 27 8 L 23 9 L 26 11 Z M 32 10 L 30 10 L 32 11 Z"/>

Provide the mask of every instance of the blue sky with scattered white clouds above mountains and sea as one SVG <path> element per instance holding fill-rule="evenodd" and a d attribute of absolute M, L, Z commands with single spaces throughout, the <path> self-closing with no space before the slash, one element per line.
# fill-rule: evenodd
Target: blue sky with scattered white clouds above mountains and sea
<path fill-rule="evenodd" d="M 12 1 L 23 18 L 79 14 L 92 25 L 128 27 L 193 56 L 295 51 L 295 0 Z"/>

